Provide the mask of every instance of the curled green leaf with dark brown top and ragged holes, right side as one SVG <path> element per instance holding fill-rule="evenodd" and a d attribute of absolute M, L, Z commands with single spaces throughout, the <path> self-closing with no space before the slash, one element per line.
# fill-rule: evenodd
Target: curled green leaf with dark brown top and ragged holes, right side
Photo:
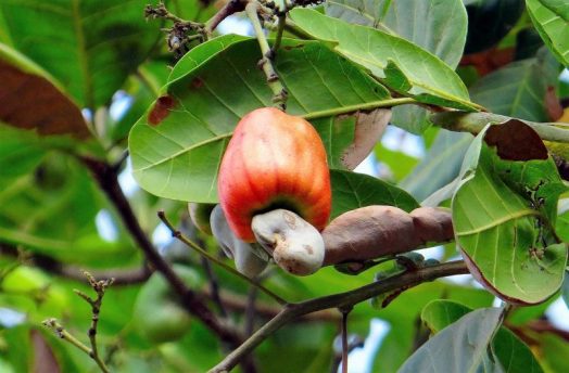
<path fill-rule="evenodd" d="M 504 155 L 508 146 L 523 156 L 529 155 L 528 143 L 538 146 L 529 132 L 519 137 L 529 127 L 516 126 L 491 127 L 492 136 L 484 130 L 472 143 L 453 198 L 453 223 L 463 256 L 479 281 L 509 301 L 538 304 L 553 295 L 564 278 L 567 246 L 555 239 L 552 206 L 566 186 L 543 144 L 545 159 L 509 160 L 511 154 Z M 507 138 L 508 129 L 518 132 L 514 140 Z M 481 143 L 484 137 L 497 144 L 501 156 Z"/>

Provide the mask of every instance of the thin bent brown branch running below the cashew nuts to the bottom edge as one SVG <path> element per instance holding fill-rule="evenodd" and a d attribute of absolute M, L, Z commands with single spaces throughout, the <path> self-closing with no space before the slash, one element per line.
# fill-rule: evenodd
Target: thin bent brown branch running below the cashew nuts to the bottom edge
<path fill-rule="evenodd" d="M 328 308 L 349 308 L 366 299 L 389 293 L 402 287 L 413 287 L 422 282 L 432 281 L 442 276 L 468 273 L 464 261 L 451 261 L 442 265 L 419 268 L 416 271 L 407 271 L 383 281 L 375 282 L 354 291 L 329 295 L 320 298 L 309 299 L 299 304 L 287 305 L 275 318 L 263 325 L 239 348 L 229 353 L 220 363 L 210 372 L 222 373 L 230 371 L 242 357 L 250 353 L 263 340 L 288 322 L 311 312 Z"/>

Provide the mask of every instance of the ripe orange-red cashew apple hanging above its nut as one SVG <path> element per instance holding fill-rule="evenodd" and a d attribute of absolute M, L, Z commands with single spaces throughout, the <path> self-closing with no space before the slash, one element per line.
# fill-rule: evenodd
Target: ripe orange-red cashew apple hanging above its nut
<path fill-rule="evenodd" d="M 222 160 L 220 205 L 237 237 L 254 242 L 257 214 L 286 208 L 323 230 L 331 210 L 326 151 L 314 127 L 275 107 L 257 108 L 237 125 Z"/>

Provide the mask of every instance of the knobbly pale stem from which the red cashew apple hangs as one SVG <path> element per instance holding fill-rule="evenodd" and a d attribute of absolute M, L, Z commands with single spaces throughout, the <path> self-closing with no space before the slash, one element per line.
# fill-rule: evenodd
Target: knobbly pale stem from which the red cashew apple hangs
<path fill-rule="evenodd" d="M 250 1 L 245 5 L 245 13 L 248 17 L 251 20 L 251 23 L 253 24 L 253 29 L 255 30 L 258 46 L 261 48 L 261 53 L 263 54 L 263 57 L 258 62 L 258 66 L 263 68 L 263 72 L 265 73 L 265 76 L 267 78 L 267 85 L 273 91 L 274 106 L 284 111 L 287 108 L 288 92 L 284 86 L 282 86 L 282 83 L 280 82 L 280 78 L 277 75 L 275 67 L 273 66 L 275 53 L 274 50 L 271 50 L 268 46 L 267 38 L 265 37 L 265 33 L 263 30 L 263 26 L 261 26 L 261 21 L 258 20 L 258 3 L 256 1 Z M 284 27 L 284 23 L 281 22 L 280 17 L 278 27 L 279 29 Z M 280 31 L 280 35 L 282 36 L 282 31 Z M 280 44 L 280 38 L 277 37 L 277 42 L 275 43 L 275 46 L 278 48 L 278 44 Z"/>

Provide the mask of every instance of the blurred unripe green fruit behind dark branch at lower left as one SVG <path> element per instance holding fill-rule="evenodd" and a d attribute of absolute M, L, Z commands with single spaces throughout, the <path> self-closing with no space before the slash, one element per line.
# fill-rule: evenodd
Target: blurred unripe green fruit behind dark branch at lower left
<path fill-rule="evenodd" d="M 174 270 L 188 286 L 201 285 L 194 270 L 179 265 Z M 162 274 L 154 273 L 138 293 L 132 322 L 143 338 L 159 344 L 181 338 L 190 327 L 191 318 Z"/>

